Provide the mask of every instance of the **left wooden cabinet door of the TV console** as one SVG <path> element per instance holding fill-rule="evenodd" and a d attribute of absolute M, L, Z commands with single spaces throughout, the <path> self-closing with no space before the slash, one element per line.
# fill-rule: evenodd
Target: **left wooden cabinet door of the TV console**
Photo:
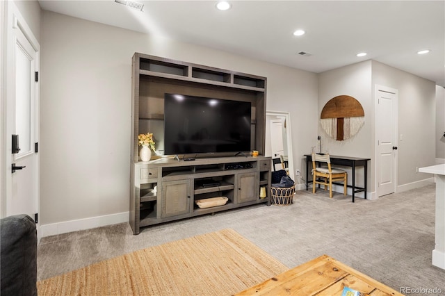
<path fill-rule="evenodd" d="M 165 181 L 162 183 L 161 217 L 190 213 L 190 180 Z"/>

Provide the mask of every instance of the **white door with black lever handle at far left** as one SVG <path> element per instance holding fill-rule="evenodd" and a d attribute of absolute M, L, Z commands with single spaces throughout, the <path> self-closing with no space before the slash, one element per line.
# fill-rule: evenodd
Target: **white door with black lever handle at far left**
<path fill-rule="evenodd" d="M 40 46 L 13 3 L 8 1 L 6 59 L 6 213 L 38 213 L 38 94 Z M 19 151 L 12 138 L 18 135 Z"/>

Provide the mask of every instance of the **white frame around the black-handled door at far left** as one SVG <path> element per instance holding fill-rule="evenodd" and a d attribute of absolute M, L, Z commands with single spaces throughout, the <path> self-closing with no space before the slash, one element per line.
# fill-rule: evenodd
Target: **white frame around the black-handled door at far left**
<path fill-rule="evenodd" d="M 13 126 L 14 120 L 8 114 L 15 114 L 15 106 L 13 105 L 13 97 L 15 96 L 15 58 L 14 58 L 14 48 L 15 44 L 12 44 L 11 40 L 13 40 L 13 30 L 18 29 L 22 31 L 25 38 L 31 44 L 31 47 L 35 50 L 35 71 L 40 72 L 40 44 L 38 40 L 33 35 L 31 28 L 29 28 L 28 24 L 22 13 L 18 10 L 17 6 L 13 1 L 1 1 L 1 97 L 5 98 L 2 100 L 0 115 L 1 115 L 1 129 L 0 129 L 0 163 L 1 163 L 1 172 L 0 172 L 0 217 L 5 217 L 7 215 L 8 208 L 8 198 L 12 195 L 12 172 L 11 172 L 11 164 L 12 164 L 12 138 L 10 133 L 10 126 Z M 40 81 L 39 75 L 39 81 Z M 9 79 L 8 79 L 9 77 Z M 39 142 L 40 138 L 40 82 L 35 85 L 35 111 L 33 114 L 34 117 L 34 141 Z M 31 143 L 33 145 L 33 143 Z M 32 148 L 31 148 L 32 149 Z M 40 212 L 40 156 L 38 153 L 35 153 L 35 211 L 36 213 Z M 34 218 L 34 217 L 32 217 Z M 37 224 L 39 228 L 39 224 Z M 39 233 L 39 231 L 38 231 Z"/>

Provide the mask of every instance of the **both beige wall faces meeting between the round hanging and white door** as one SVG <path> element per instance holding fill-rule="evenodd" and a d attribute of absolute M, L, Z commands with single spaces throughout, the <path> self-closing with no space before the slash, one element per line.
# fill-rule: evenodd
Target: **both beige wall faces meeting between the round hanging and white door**
<path fill-rule="evenodd" d="M 326 102 L 341 94 L 355 97 L 365 113 L 362 129 L 344 141 L 330 139 L 318 124 L 322 150 L 371 158 L 368 191 L 375 194 L 375 85 L 398 90 L 398 138 L 403 134 L 403 141 L 397 143 L 397 190 L 420 186 L 430 176 L 416 173 L 416 167 L 435 163 L 435 83 L 394 67 L 367 60 L 318 75 L 318 117 Z M 357 174 L 359 186 L 360 181 L 362 172 Z"/>

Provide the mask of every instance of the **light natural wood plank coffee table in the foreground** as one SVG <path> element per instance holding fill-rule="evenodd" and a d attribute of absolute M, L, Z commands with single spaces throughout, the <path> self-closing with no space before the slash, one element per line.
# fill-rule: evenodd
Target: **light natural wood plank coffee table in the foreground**
<path fill-rule="evenodd" d="M 236 295 L 341 295 L 348 286 L 364 295 L 403 295 L 330 256 L 323 255 Z"/>

